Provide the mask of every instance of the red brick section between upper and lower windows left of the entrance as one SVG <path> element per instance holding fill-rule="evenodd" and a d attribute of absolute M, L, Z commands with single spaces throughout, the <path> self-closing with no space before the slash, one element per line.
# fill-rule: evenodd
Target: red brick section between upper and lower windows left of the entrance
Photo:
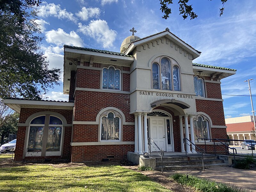
<path fill-rule="evenodd" d="M 120 109 L 126 122 L 134 122 L 134 115 L 130 114 L 130 95 L 89 91 L 76 91 L 75 121 L 96 121 L 100 110 L 107 107 Z"/>

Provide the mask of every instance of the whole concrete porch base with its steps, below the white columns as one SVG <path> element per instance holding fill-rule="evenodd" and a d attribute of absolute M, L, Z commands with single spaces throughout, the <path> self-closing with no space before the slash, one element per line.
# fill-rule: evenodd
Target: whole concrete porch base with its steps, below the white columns
<path fill-rule="evenodd" d="M 215 156 L 212 154 L 205 154 L 204 168 L 221 167 L 231 164 L 228 162 L 228 157 Z M 140 164 L 140 166 L 151 167 L 154 170 L 162 169 L 161 156 L 157 152 L 152 152 L 150 157 L 128 152 L 127 158 L 133 163 Z M 165 152 L 163 156 L 163 170 L 179 170 L 179 169 L 203 169 L 202 155 L 197 153 L 181 152 Z"/>

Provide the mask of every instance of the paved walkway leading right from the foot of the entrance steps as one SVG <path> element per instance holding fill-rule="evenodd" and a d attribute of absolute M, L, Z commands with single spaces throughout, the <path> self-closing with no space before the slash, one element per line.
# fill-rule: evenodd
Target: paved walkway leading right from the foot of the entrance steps
<path fill-rule="evenodd" d="M 164 171 L 167 174 L 191 174 L 204 179 L 228 183 L 256 192 L 256 171 L 235 169 L 232 167 L 217 167 L 203 170 L 174 170 Z"/>

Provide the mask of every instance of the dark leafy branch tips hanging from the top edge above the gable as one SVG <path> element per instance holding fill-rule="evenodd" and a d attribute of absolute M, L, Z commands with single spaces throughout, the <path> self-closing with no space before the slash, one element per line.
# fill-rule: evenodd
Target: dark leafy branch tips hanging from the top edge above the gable
<path fill-rule="evenodd" d="M 160 0 L 162 12 L 164 13 L 164 16 L 162 17 L 163 19 L 167 19 L 169 17 L 169 14 L 171 14 L 172 10 L 170 8 L 170 4 L 173 4 L 173 0 Z M 180 4 L 180 15 L 182 15 L 183 19 L 187 19 L 188 16 L 190 17 L 190 20 L 197 18 L 198 15 L 193 11 L 192 5 L 188 5 L 188 2 L 190 0 L 179 0 L 178 4 Z M 212 0 L 210 0 L 212 1 Z M 224 4 L 228 0 L 220 0 L 222 2 L 222 8 L 220 8 L 220 16 L 224 12 Z"/>

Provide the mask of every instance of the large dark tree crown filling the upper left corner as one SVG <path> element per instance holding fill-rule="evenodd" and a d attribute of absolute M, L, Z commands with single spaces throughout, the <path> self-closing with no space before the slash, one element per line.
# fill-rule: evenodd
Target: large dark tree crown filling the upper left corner
<path fill-rule="evenodd" d="M 40 51 L 43 38 L 38 36 L 36 11 L 28 11 L 39 4 L 35 0 L 0 3 L 0 98 L 40 99 L 49 87 L 59 84 L 60 69 L 49 69 Z"/>

